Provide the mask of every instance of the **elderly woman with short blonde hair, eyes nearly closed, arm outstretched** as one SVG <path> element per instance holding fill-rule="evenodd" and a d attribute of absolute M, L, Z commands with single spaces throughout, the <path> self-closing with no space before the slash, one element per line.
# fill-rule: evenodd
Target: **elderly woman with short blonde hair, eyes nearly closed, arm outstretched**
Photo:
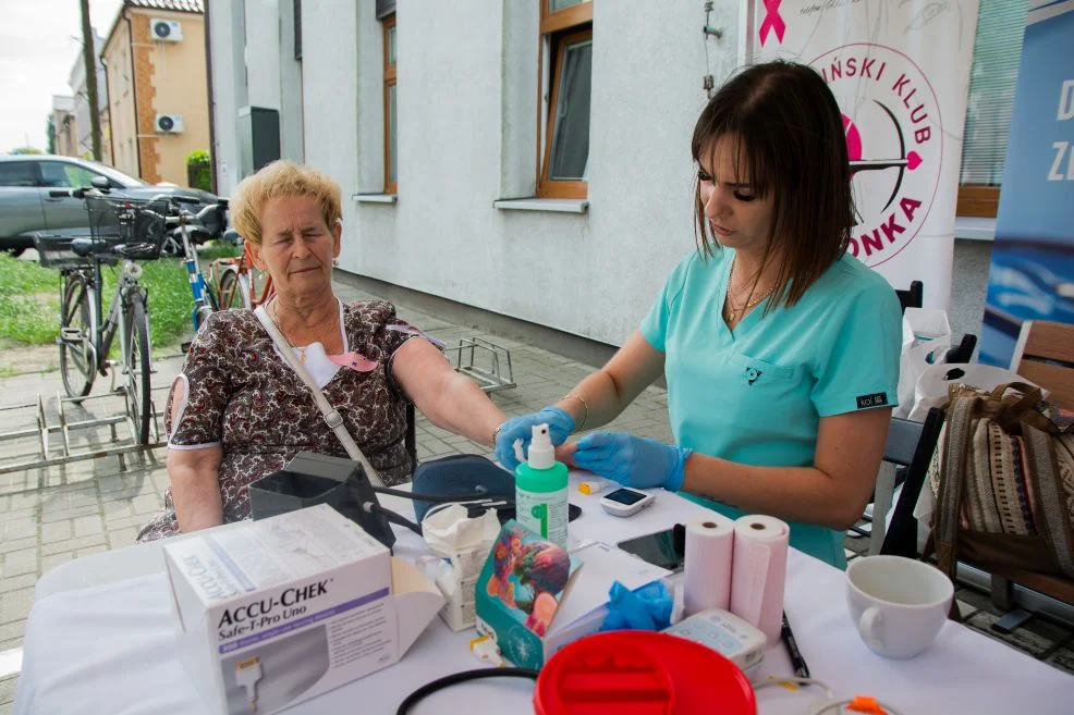
<path fill-rule="evenodd" d="M 345 305 L 332 293 L 340 255 L 339 186 L 320 172 L 273 162 L 243 181 L 231 201 L 235 227 L 267 271 L 267 312 L 344 418 L 387 484 L 408 479 L 406 403 L 483 444 L 505 416 L 451 369 L 420 331 L 383 300 Z M 213 313 L 191 345 L 166 408 L 166 510 L 139 541 L 249 516 L 248 485 L 298 452 L 346 456 L 306 384 L 249 310 Z"/>

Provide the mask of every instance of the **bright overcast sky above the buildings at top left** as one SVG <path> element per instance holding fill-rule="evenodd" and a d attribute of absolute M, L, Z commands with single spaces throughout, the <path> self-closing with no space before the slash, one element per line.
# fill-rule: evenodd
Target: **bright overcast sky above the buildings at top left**
<path fill-rule="evenodd" d="M 70 95 L 68 77 L 82 52 L 78 0 L 0 0 L 0 153 L 47 149 L 52 95 Z M 121 0 L 89 0 L 89 20 L 105 36 Z M 101 88 L 103 90 L 103 88 Z"/>

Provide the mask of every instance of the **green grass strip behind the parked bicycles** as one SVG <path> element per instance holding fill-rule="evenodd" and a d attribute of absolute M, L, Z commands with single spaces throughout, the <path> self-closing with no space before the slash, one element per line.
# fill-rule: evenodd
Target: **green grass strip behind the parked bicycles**
<path fill-rule="evenodd" d="M 193 332 L 186 270 L 178 259 L 142 263 L 141 283 L 149 292 L 149 340 L 172 345 Z M 102 309 L 107 313 L 120 268 L 103 268 Z M 0 337 L 28 345 L 47 345 L 60 333 L 60 274 L 37 263 L 0 254 Z M 119 345 L 113 345 L 118 354 Z"/>

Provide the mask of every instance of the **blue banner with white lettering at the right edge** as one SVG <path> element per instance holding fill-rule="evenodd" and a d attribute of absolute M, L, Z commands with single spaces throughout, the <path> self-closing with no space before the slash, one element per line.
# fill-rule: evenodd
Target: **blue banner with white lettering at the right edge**
<path fill-rule="evenodd" d="M 980 361 L 1008 367 L 1025 320 L 1074 323 L 1074 0 L 1030 3 Z"/>

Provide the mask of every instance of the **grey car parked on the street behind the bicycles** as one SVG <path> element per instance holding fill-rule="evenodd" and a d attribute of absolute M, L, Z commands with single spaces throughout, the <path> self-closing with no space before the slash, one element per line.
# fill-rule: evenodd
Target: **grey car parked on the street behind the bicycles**
<path fill-rule="evenodd" d="M 34 234 L 38 232 L 88 235 L 89 219 L 82 199 L 49 196 L 49 190 L 87 187 L 98 176 L 108 180 L 111 196 L 149 199 L 167 194 L 197 199 L 198 208 L 217 201 L 209 192 L 170 184 L 152 186 L 110 167 L 74 157 L 0 157 L 0 249 L 17 256 L 33 248 Z"/>

